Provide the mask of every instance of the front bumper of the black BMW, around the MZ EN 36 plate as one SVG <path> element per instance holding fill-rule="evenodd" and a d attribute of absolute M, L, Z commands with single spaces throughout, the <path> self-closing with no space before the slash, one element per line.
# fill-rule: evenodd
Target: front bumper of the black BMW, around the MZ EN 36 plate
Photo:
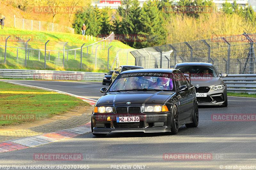
<path fill-rule="evenodd" d="M 108 117 L 110 121 L 107 121 Z M 116 117 L 140 116 L 140 122 L 116 122 Z M 171 113 L 159 114 L 92 114 L 93 133 L 171 132 Z"/>

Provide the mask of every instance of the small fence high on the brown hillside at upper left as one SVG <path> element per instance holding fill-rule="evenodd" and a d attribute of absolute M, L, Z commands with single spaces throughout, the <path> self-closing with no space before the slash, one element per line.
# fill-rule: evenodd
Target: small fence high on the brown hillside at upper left
<path fill-rule="evenodd" d="M 74 33 L 74 28 L 70 28 L 68 26 L 63 26 L 52 22 L 36 21 L 22 18 L 14 18 L 14 28 L 31 31 Z"/>

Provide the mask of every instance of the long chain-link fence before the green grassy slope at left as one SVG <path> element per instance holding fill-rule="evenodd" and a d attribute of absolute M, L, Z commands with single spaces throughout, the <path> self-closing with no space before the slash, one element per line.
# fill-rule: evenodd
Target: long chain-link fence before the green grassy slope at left
<path fill-rule="evenodd" d="M 114 63 L 116 54 L 120 58 L 129 60 L 134 64 L 134 57 L 129 54 L 129 49 L 111 46 L 115 39 L 112 32 L 108 37 L 95 38 L 97 42 L 86 45 L 86 43 L 72 43 L 61 41 L 48 41 L 41 39 L 26 38 L 22 41 L 19 37 L 0 35 L 0 64 L 26 66 L 33 69 L 47 70 L 85 70 L 106 71 Z M 5 45 L 4 45 L 5 44 Z M 129 55 L 129 59 L 127 59 Z M 123 63 L 123 60 L 120 60 Z M 57 66 L 56 66 L 57 65 Z M 116 68 L 116 67 L 115 67 Z"/>

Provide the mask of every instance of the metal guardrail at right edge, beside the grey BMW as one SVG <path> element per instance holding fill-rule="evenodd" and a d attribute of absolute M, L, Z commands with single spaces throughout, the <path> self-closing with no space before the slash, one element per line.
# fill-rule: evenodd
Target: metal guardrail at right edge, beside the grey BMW
<path fill-rule="evenodd" d="M 228 92 L 256 93 L 256 74 L 229 74 L 223 81 Z"/>

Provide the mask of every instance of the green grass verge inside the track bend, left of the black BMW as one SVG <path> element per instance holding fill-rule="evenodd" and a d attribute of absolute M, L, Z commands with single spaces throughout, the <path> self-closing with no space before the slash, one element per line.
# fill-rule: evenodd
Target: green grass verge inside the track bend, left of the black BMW
<path fill-rule="evenodd" d="M 0 81 L 0 125 L 31 122 L 63 114 L 87 102 L 65 94 Z"/>

